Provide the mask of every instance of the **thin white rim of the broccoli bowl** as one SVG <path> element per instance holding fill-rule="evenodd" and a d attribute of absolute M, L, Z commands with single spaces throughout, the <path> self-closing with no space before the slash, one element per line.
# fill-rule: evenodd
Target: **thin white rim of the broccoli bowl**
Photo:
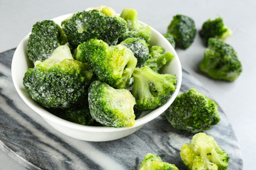
<path fill-rule="evenodd" d="M 58 16 L 56 18 L 53 18 L 51 20 L 56 22 L 56 24 L 60 25 L 60 22 L 62 20 L 65 20 L 66 18 L 70 17 L 72 14 L 74 14 L 74 13 L 64 14 L 64 15 Z M 140 22 L 140 24 L 147 25 L 147 24 L 144 24 L 144 22 Z M 156 33 L 157 37 L 161 37 L 161 41 L 163 41 L 164 43 L 169 43 L 169 41 L 167 41 L 167 39 L 165 39 L 163 37 L 163 35 L 161 35 L 161 33 L 159 33 L 156 29 L 154 29 L 150 25 L 149 25 L 149 27 L 152 30 L 152 32 Z M 173 93 L 173 95 L 171 96 L 171 98 L 167 101 L 167 103 L 165 103 L 161 107 L 158 107 L 158 108 L 156 108 L 154 110 L 150 110 L 150 112 L 148 112 L 148 114 L 146 114 L 146 115 L 142 116 L 141 118 L 138 118 L 137 120 L 135 120 L 134 126 L 131 126 L 131 127 L 85 126 L 85 125 L 81 125 L 81 124 L 75 124 L 74 122 L 69 122 L 68 120 L 64 120 L 62 118 L 59 118 L 58 116 L 55 116 L 51 112 L 48 112 L 43 107 L 41 107 L 41 105 L 39 105 L 35 101 L 33 101 L 32 98 L 26 92 L 24 86 L 22 88 L 20 86 L 19 82 L 17 81 L 17 76 L 15 74 L 16 72 L 15 72 L 15 69 L 14 69 L 16 67 L 16 65 L 18 64 L 17 61 L 16 61 L 16 58 L 18 58 L 20 52 L 24 53 L 24 50 L 26 50 L 24 48 L 24 45 L 26 45 L 26 44 L 24 44 L 24 43 L 26 43 L 26 41 L 28 40 L 28 37 L 29 37 L 30 33 L 28 33 L 24 37 L 24 39 L 22 39 L 22 41 L 18 44 L 18 46 L 17 46 L 17 48 L 16 48 L 16 50 L 14 52 L 14 56 L 12 58 L 12 65 L 11 65 L 12 81 L 14 83 L 14 87 L 15 87 L 16 91 L 18 92 L 18 94 L 20 95 L 22 100 L 34 112 L 36 112 L 37 114 L 42 116 L 43 119 L 46 118 L 47 120 L 49 120 L 51 122 L 54 122 L 56 124 L 59 124 L 61 126 L 66 126 L 66 127 L 71 128 L 71 129 L 77 129 L 77 130 L 80 130 L 80 131 L 91 131 L 91 132 L 125 131 L 125 130 L 129 130 L 129 129 L 133 129 L 135 127 L 143 126 L 144 124 L 150 122 L 151 120 L 154 120 L 154 118 L 160 116 L 160 114 L 162 114 L 163 111 L 166 110 L 171 105 L 171 103 L 173 103 L 175 97 L 178 95 L 179 90 L 181 88 L 181 82 L 182 82 L 181 61 L 179 59 L 179 56 L 177 55 L 177 52 L 175 51 L 173 46 L 171 46 L 171 44 L 169 43 L 169 48 L 171 48 L 171 53 L 175 55 L 174 59 L 177 59 L 176 62 L 178 63 L 177 67 L 179 68 L 178 69 L 179 77 L 177 76 L 177 80 L 178 80 L 177 81 L 177 88 L 176 88 L 175 92 Z M 26 54 L 26 52 L 25 52 L 25 54 Z"/>

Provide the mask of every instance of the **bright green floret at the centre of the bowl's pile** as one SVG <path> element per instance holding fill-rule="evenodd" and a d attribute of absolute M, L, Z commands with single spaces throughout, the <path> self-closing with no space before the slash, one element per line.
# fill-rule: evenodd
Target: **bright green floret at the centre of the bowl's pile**
<path fill-rule="evenodd" d="M 91 39 L 77 46 L 75 59 L 88 62 L 101 82 L 114 88 L 126 88 L 137 65 L 133 52 L 123 44 L 108 46 L 106 42 Z"/>

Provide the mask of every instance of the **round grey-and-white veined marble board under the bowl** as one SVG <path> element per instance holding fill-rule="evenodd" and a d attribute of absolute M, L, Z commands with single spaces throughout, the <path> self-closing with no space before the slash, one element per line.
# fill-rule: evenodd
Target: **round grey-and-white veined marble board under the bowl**
<path fill-rule="evenodd" d="M 22 101 L 12 84 L 14 50 L 0 54 L 0 148 L 26 169 L 138 169 L 147 153 L 186 169 L 179 152 L 193 135 L 171 127 L 164 114 L 116 141 L 79 141 L 53 129 Z M 212 99 L 198 80 L 182 73 L 181 92 L 196 88 Z M 240 170 L 243 161 L 238 140 L 220 106 L 219 114 L 221 122 L 205 133 L 230 156 L 228 169 Z"/>

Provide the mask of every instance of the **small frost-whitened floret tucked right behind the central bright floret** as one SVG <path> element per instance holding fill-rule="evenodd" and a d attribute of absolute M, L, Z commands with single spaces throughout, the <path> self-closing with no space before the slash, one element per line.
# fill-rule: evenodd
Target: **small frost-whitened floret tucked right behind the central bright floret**
<path fill-rule="evenodd" d="M 148 60 L 149 49 L 146 41 L 137 38 L 129 38 L 122 41 L 120 44 L 127 46 L 133 52 L 135 58 L 138 60 L 136 67 L 142 67 L 146 60 Z"/>

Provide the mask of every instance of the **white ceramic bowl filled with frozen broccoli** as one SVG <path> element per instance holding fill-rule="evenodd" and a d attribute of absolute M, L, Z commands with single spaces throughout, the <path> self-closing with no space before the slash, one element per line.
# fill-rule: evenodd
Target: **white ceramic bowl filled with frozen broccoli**
<path fill-rule="evenodd" d="M 70 14 L 66 14 L 54 18 L 53 20 L 60 25 L 62 20 L 68 18 L 69 16 Z M 144 24 L 142 22 L 140 23 Z M 24 74 L 26 73 L 28 68 L 33 67 L 33 63 L 29 61 L 26 56 L 29 34 L 24 37 L 20 44 L 18 44 L 18 47 L 16 48 L 12 59 L 11 71 L 14 86 L 20 97 L 31 109 L 37 112 L 54 129 L 60 131 L 61 133 L 64 133 L 65 135 L 84 141 L 112 141 L 130 135 L 131 133 L 134 133 L 135 131 L 140 129 L 144 124 L 150 122 L 161 113 L 163 113 L 163 111 L 166 110 L 171 105 L 171 103 L 173 103 L 173 100 L 175 99 L 181 88 L 182 69 L 177 53 L 173 49 L 173 46 L 171 46 L 171 44 L 165 39 L 165 37 L 163 37 L 163 35 L 156 31 L 156 29 L 152 27 L 151 29 L 152 39 L 149 42 L 150 45 L 159 45 L 165 49 L 165 52 L 171 52 L 172 54 L 175 54 L 175 58 L 173 58 L 173 60 L 165 65 L 165 67 L 163 68 L 163 73 L 177 75 L 177 89 L 175 90 L 175 93 L 173 93 L 171 99 L 169 99 L 169 101 L 167 101 L 165 105 L 158 107 L 157 109 L 151 110 L 145 116 L 137 119 L 133 127 L 115 128 L 102 126 L 83 126 L 80 124 L 75 124 L 73 122 L 68 122 L 66 120 L 63 120 L 62 118 L 58 118 L 57 116 L 54 116 L 54 114 L 51 114 L 43 107 L 35 103 L 30 95 L 28 95 L 22 84 Z"/>

